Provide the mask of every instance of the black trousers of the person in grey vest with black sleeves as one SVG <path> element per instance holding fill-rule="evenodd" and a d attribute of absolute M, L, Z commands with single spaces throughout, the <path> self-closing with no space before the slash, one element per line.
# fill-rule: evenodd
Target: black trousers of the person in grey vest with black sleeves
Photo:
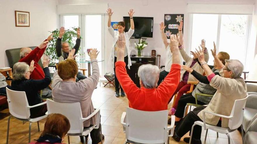
<path fill-rule="evenodd" d="M 182 95 L 178 101 L 178 107 L 177 110 L 175 112 L 175 116 L 178 118 L 183 118 L 184 116 L 184 111 L 185 111 L 185 106 L 187 105 L 187 103 L 192 103 L 192 104 L 196 104 L 195 103 L 195 97 L 192 96 L 192 93 L 188 93 L 185 95 Z M 197 104 L 200 105 L 205 105 L 205 103 L 197 100 Z"/>

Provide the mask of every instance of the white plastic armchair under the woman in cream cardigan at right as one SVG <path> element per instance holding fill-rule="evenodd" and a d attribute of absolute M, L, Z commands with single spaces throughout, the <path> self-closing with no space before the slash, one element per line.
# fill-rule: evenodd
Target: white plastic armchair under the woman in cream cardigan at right
<path fill-rule="evenodd" d="M 233 105 L 230 116 L 220 115 L 220 114 L 212 113 L 212 112 L 209 112 L 209 111 L 203 111 L 203 122 L 202 121 L 196 121 L 194 123 L 194 125 L 192 126 L 189 144 L 191 144 L 192 134 L 193 134 L 193 130 L 194 130 L 195 125 L 202 126 L 206 130 L 204 141 L 206 141 L 206 136 L 207 136 L 207 133 L 208 133 L 208 129 L 211 129 L 211 130 L 216 131 L 218 133 L 226 134 L 228 136 L 228 144 L 230 144 L 229 133 L 232 132 L 232 131 L 237 130 L 237 128 L 242 125 L 244 108 L 245 108 L 247 98 L 248 98 L 248 94 L 243 99 L 235 100 L 235 103 Z M 216 116 L 221 117 L 221 118 L 228 118 L 229 119 L 228 128 L 223 128 L 223 127 L 218 127 L 218 126 L 206 124 L 205 113 L 216 115 Z"/>

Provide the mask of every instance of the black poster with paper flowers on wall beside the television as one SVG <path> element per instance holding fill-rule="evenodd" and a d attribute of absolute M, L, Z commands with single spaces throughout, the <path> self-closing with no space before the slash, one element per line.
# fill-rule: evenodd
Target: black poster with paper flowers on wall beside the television
<path fill-rule="evenodd" d="M 164 25 L 166 26 L 164 29 L 164 33 L 166 37 L 169 39 L 171 34 L 178 33 L 178 25 L 184 19 L 184 14 L 164 14 Z M 184 22 L 184 21 L 183 21 Z M 184 24 L 183 29 L 184 30 Z"/>

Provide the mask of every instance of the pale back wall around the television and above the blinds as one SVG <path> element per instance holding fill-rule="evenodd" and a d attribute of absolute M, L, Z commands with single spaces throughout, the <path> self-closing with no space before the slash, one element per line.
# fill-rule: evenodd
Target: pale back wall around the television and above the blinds
<path fill-rule="evenodd" d="M 148 2 L 143 5 L 143 2 Z M 164 20 L 164 14 L 184 14 L 184 39 L 185 45 L 188 42 L 188 24 L 189 14 L 187 12 L 188 3 L 204 3 L 204 4 L 253 4 L 253 0 L 58 0 L 59 5 L 67 4 L 94 4 L 109 3 L 109 7 L 114 10 L 112 21 L 122 21 L 123 16 L 128 16 L 130 8 L 135 10 L 135 17 L 154 17 L 153 38 L 147 38 L 148 47 L 143 50 L 144 55 L 150 55 L 152 49 L 157 50 L 157 54 L 161 55 L 161 65 L 165 63 L 165 49 L 159 32 L 159 23 Z M 105 24 L 108 15 L 105 16 Z M 131 39 L 131 54 L 137 51 L 133 47 L 135 39 Z M 105 48 L 110 49 L 112 46 L 112 37 L 109 33 L 105 35 Z M 108 61 L 110 50 L 106 51 L 105 61 Z M 112 67 L 107 66 L 106 71 L 113 71 Z"/>

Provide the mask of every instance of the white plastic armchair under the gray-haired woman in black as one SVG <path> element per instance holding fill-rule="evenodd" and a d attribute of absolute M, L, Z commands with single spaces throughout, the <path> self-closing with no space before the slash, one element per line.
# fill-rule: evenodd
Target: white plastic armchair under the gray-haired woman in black
<path fill-rule="evenodd" d="M 30 132 L 31 132 L 32 122 L 37 122 L 38 131 L 40 131 L 38 121 L 42 120 L 43 118 L 46 118 L 47 115 L 43 115 L 43 116 L 37 117 L 37 118 L 30 118 L 29 109 L 46 104 L 46 102 L 42 102 L 42 103 L 36 104 L 34 106 L 29 106 L 27 96 L 24 91 L 14 91 L 14 90 L 10 90 L 9 88 L 6 87 L 6 94 L 7 94 L 7 102 L 8 102 L 9 112 L 11 113 L 11 115 L 8 118 L 6 144 L 8 144 L 10 118 L 12 116 L 23 122 L 24 121 L 29 122 L 29 143 L 30 143 Z"/>

